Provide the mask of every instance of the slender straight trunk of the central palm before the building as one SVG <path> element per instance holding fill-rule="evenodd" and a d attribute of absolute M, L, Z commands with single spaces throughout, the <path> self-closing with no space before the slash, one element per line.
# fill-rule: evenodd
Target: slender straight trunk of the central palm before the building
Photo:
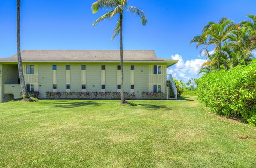
<path fill-rule="evenodd" d="M 121 62 L 121 103 L 125 103 L 123 93 L 123 14 L 120 13 L 120 62 Z"/>

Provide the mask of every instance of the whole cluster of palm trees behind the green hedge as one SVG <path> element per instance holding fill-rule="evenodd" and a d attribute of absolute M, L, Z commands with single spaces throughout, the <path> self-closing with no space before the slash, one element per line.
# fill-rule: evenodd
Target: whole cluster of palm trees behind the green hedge
<path fill-rule="evenodd" d="M 238 24 L 225 17 L 218 23 L 209 22 L 202 34 L 191 40 L 190 44 L 196 43 L 196 48 L 202 46 L 201 53 L 207 58 L 198 73 L 208 74 L 251 63 L 252 52 L 256 49 L 256 16 L 247 16 L 250 21 Z M 209 51 L 209 47 L 214 47 L 213 53 Z"/>

